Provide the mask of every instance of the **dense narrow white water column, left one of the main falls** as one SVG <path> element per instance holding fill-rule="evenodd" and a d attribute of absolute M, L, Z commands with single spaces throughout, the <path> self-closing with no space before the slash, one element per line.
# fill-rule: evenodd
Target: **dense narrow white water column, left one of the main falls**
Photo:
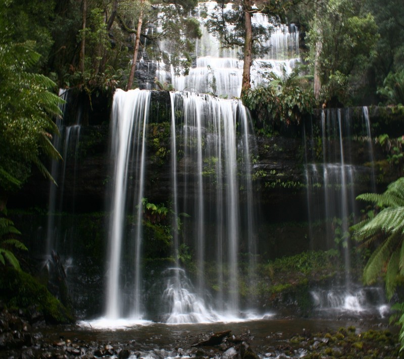
<path fill-rule="evenodd" d="M 141 206 L 144 185 L 145 164 L 145 136 L 149 110 L 149 91 L 131 90 L 124 92 L 117 90 L 111 119 L 111 160 L 113 162 L 113 185 L 111 198 L 111 218 L 109 232 L 109 270 L 107 280 L 106 317 L 118 319 L 122 316 L 141 319 Z M 132 168 L 131 166 L 134 166 Z M 135 177 L 133 193 L 128 191 L 128 179 Z M 133 203 L 127 203 L 133 198 Z M 131 212 L 128 212 L 130 209 Z M 129 293 L 124 292 L 125 283 L 122 282 L 122 247 L 125 233 L 125 217 L 127 214 L 137 213 L 136 231 L 134 238 L 129 241 L 135 243 L 134 253 L 129 253 L 133 264 L 133 282 L 129 285 Z M 129 246 L 131 247 L 131 246 Z M 125 273 L 126 274 L 126 273 Z M 128 297 L 127 300 L 125 300 Z"/>

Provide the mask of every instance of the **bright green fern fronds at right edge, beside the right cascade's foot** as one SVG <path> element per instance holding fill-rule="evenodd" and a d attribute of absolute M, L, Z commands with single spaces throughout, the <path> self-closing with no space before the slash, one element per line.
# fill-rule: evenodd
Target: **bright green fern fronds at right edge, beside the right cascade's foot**
<path fill-rule="evenodd" d="M 364 193 L 357 199 L 373 202 L 381 209 L 352 227 L 354 238 L 368 246 L 377 245 L 364 269 L 364 282 L 373 283 L 385 273 L 386 293 L 391 298 L 397 276 L 404 275 L 404 177 L 390 183 L 382 194 Z"/>

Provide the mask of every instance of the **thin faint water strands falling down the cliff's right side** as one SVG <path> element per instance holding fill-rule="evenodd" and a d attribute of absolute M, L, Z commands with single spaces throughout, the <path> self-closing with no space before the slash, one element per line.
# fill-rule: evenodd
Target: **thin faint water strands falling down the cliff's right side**
<path fill-rule="evenodd" d="M 321 147 L 309 142 L 305 135 L 306 145 L 306 180 L 308 185 L 308 219 L 311 240 L 314 237 L 325 238 L 323 249 L 340 247 L 344 252 L 345 286 L 350 285 L 350 248 L 349 226 L 353 224 L 356 209 L 356 184 L 359 178 L 369 177 L 374 183 L 372 166 L 356 164 L 352 161 L 353 154 L 361 148 L 362 163 L 373 164 L 372 140 L 370 134 L 369 116 L 362 124 L 354 123 L 351 119 L 351 109 L 329 109 L 322 112 L 320 131 Z M 313 128 L 313 126 L 311 126 Z M 311 133 L 313 138 L 313 133 Z M 356 141 L 356 144 L 354 143 Z M 363 151 L 363 142 L 366 142 Z M 359 146 L 358 147 L 358 143 Z M 311 150 L 309 150 L 311 148 Z M 316 153 L 315 153 L 316 152 Z M 309 159 L 321 162 L 310 162 Z M 373 178 L 373 180 L 372 180 Z M 314 223 L 324 223 L 322 230 L 315 230 Z M 317 234 L 315 232 L 317 231 Z M 319 233 L 321 232 L 321 233 Z M 313 246 L 312 246 L 313 247 Z"/>

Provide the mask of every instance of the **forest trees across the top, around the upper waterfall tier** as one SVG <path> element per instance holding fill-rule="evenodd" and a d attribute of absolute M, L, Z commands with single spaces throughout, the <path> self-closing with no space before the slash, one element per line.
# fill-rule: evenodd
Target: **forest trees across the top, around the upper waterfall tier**
<path fill-rule="evenodd" d="M 263 39 L 270 35 L 248 23 L 263 13 L 274 23 L 298 26 L 301 62 L 308 65 L 305 74 L 312 76 L 319 105 L 397 101 L 388 91 L 377 90 L 388 86 L 386 78 L 401 78 L 404 71 L 400 61 L 404 46 L 399 41 L 404 36 L 404 10 L 398 0 L 388 4 L 376 0 L 215 4 L 216 11 L 205 14 L 206 23 L 224 47 L 240 46 L 246 66 L 243 88 L 250 87 L 248 66 L 265 50 Z M 59 87 L 125 88 L 134 55 L 135 62 L 160 61 L 186 74 L 195 59 L 195 40 L 201 35 L 195 0 L 2 0 L 2 5 L 3 41 L 33 41 L 41 55 L 37 72 Z M 223 12 L 224 7 L 232 10 Z M 134 54 L 137 35 L 140 50 Z M 138 85 L 135 78 L 132 86 Z"/>

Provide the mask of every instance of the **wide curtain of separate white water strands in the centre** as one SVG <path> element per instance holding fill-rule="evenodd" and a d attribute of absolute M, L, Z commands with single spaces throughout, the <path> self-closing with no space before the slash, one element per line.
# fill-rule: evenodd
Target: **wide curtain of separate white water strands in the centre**
<path fill-rule="evenodd" d="M 243 182 L 245 191 L 251 190 L 249 179 L 249 118 L 245 108 L 238 100 L 218 99 L 210 95 L 177 93 L 182 108 L 176 108 L 183 113 L 183 148 L 184 157 L 184 204 L 183 212 L 193 213 L 197 218 L 194 224 L 197 257 L 197 289 L 203 296 L 205 286 L 205 262 L 215 248 L 217 263 L 218 300 L 217 309 L 229 315 L 237 316 L 239 311 L 238 283 L 238 250 L 240 242 L 240 218 L 247 217 L 247 225 L 252 226 L 251 194 L 247 194 L 245 212 L 240 211 L 239 203 L 239 174 L 238 160 L 242 158 Z M 236 124 L 244 137 L 237 141 Z M 238 143 L 237 143 L 238 142 Z M 239 148 L 238 146 L 241 146 Z M 189 174 L 193 174 L 191 181 Z M 192 194 L 192 198 L 188 195 Z M 215 238 L 206 241 L 206 224 L 215 215 L 218 224 L 214 231 Z M 254 248 L 251 238 L 254 231 L 246 239 L 248 248 Z M 208 247 L 208 249 L 207 249 Z M 224 278 L 226 267 L 231 275 Z M 226 272 L 227 272 L 226 271 Z M 225 293 L 224 287 L 228 290 Z"/>

